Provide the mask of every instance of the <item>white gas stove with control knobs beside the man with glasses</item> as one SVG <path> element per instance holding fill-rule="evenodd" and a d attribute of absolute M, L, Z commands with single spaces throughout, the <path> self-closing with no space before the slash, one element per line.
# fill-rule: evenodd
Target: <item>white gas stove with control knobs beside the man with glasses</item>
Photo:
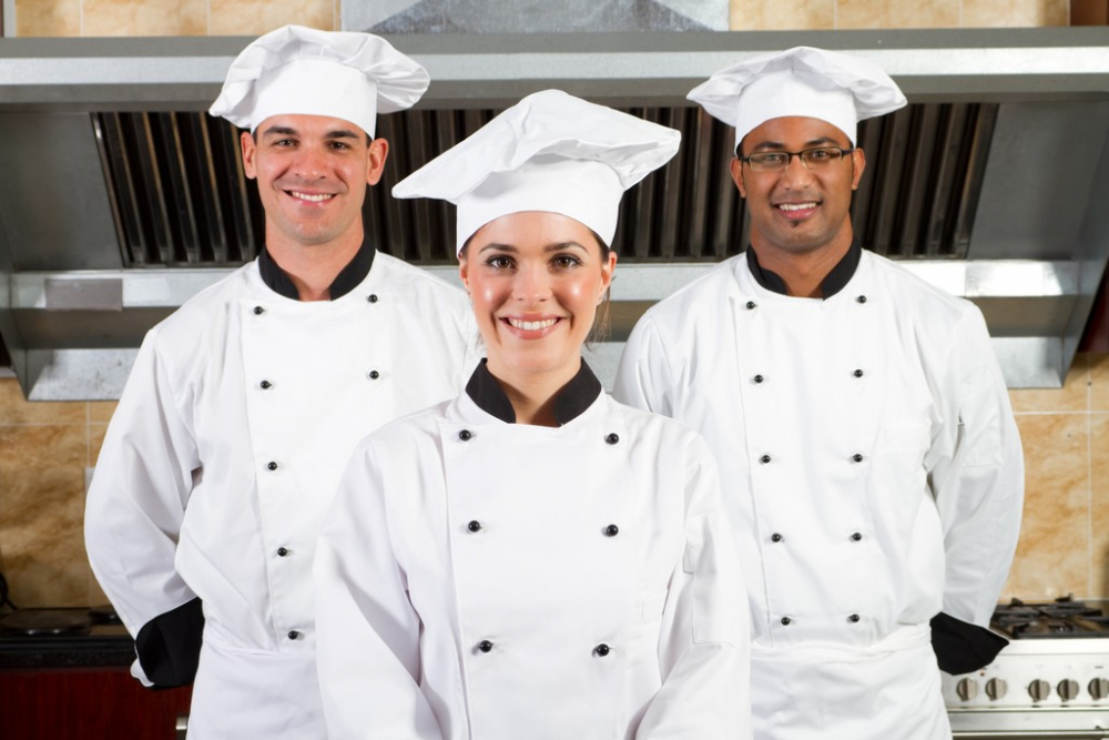
<path fill-rule="evenodd" d="M 989 666 L 943 675 L 957 739 L 1109 738 L 1109 601 L 1014 599 L 990 628 L 1010 640 Z"/>

